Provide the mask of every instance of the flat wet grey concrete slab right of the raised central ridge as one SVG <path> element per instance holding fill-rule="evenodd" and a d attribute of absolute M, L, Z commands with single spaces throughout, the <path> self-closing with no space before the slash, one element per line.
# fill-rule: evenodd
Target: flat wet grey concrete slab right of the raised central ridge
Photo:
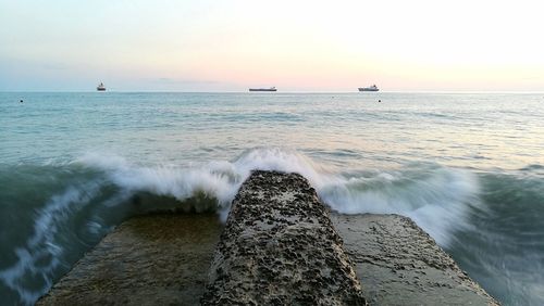
<path fill-rule="evenodd" d="M 331 217 L 370 305 L 498 304 L 409 218 Z"/>

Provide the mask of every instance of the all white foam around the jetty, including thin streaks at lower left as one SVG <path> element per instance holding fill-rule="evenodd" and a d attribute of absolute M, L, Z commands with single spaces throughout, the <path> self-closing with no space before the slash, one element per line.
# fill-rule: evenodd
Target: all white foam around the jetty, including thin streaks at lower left
<path fill-rule="evenodd" d="M 25 247 L 16 250 L 18 260 L 0 271 L 0 279 L 18 292 L 26 304 L 34 303 L 50 286 L 52 271 L 60 265 L 64 248 L 55 241 L 62 224 L 82 209 L 111 182 L 120 191 L 102 201 L 115 209 L 132 194 L 149 192 L 185 201 L 197 193 L 215 199 L 218 211 L 226 219 L 230 204 L 251 170 L 298 173 L 316 188 L 323 202 L 341 214 L 399 214 L 412 218 L 441 245 L 447 245 L 456 229 L 468 227 L 470 205 L 478 203 L 478 181 L 468 171 L 440 166 L 398 169 L 373 175 L 342 175 L 326 171 L 310 158 L 290 150 L 260 148 L 245 152 L 234 162 L 214 161 L 201 166 L 139 166 L 118 155 L 85 154 L 75 164 L 102 171 L 106 181 L 69 187 L 53 196 L 38 212 L 35 233 Z M 195 205 L 198 205 L 196 203 Z M 99 232 L 102 224 L 87 216 L 87 230 Z M 99 219 L 98 219 L 99 220 Z M 52 259 L 38 267 L 46 256 Z M 25 289 L 20 281 L 29 273 L 46 280 L 37 291 Z"/>

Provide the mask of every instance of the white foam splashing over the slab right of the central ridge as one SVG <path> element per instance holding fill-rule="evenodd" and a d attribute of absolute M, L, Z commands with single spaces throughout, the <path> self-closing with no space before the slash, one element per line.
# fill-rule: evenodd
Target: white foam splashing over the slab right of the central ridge
<path fill-rule="evenodd" d="M 422 168 L 342 179 L 318 190 L 342 214 L 398 214 L 410 217 L 443 246 L 455 230 L 470 227 L 470 206 L 478 205 L 474 175 L 453 168 Z"/>

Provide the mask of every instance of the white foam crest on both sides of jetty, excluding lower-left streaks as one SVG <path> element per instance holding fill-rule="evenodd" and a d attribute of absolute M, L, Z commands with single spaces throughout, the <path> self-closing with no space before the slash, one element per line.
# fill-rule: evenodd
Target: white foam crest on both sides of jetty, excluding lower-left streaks
<path fill-rule="evenodd" d="M 452 231 L 468 227 L 470 205 L 478 203 L 475 176 L 447 167 L 382 171 L 371 177 L 325 173 L 305 155 L 279 148 L 245 152 L 234 162 L 215 161 L 200 167 L 139 167 L 119 156 L 88 154 L 78 162 L 108 173 L 119 187 L 184 201 L 197 192 L 217 199 L 223 219 L 242 182 L 251 170 L 298 173 L 324 203 L 341 214 L 399 214 L 413 219 L 441 245 Z"/>

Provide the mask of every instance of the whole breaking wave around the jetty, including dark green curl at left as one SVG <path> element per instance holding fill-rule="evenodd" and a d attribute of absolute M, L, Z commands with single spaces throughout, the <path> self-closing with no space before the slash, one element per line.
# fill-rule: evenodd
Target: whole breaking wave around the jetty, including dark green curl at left
<path fill-rule="evenodd" d="M 470 226 L 468 211 L 478 204 L 479 193 L 475 177 L 460 169 L 412 165 L 396 171 L 334 173 L 296 151 L 279 148 L 257 148 L 233 162 L 199 166 L 140 166 L 95 152 L 38 168 L 36 173 L 57 178 L 53 181 L 64 188 L 45 192 L 51 195 L 35 207 L 32 234 L 20 246 L 5 250 L 13 259 L 7 268 L 0 267 L 8 292 L 16 292 L 25 304 L 47 292 L 89 245 L 129 215 L 215 211 L 226 219 L 232 200 L 254 169 L 302 175 L 320 199 L 341 214 L 408 216 L 441 245 L 450 243 L 453 231 Z M 28 178 L 20 180 L 32 183 Z"/>

